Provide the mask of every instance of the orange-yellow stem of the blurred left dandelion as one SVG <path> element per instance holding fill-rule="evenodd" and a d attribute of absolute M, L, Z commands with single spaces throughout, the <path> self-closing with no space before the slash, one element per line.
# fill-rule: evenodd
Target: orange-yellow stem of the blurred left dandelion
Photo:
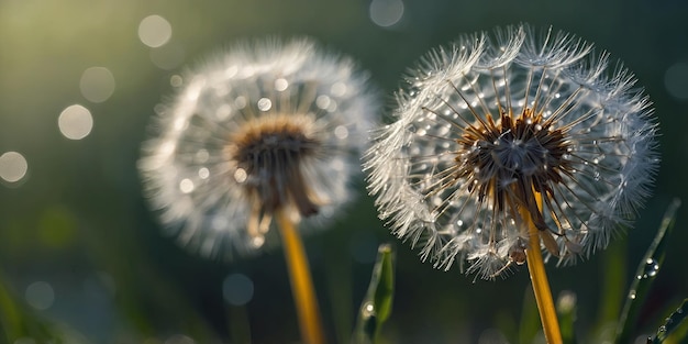
<path fill-rule="evenodd" d="M 299 318 L 301 337 L 306 344 L 322 344 L 324 337 L 318 301 L 301 237 L 293 221 L 281 210 L 277 211 L 277 222 L 285 246 L 285 258 L 289 269 L 289 281 Z"/>

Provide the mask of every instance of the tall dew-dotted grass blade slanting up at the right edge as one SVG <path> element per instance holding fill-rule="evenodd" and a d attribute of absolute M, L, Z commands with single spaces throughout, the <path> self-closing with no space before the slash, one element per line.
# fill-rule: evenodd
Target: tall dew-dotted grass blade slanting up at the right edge
<path fill-rule="evenodd" d="M 617 343 L 632 343 L 632 334 L 635 329 L 637 315 L 643 307 L 643 302 L 650 291 L 650 287 L 654 281 L 659 266 L 664 262 L 664 254 L 668 243 L 669 232 L 674 228 L 676 221 L 676 211 L 680 207 L 680 200 L 674 199 L 666 210 L 662 224 L 655 235 L 654 241 L 647 248 L 643 260 L 639 265 L 631 289 L 626 297 L 621 318 L 617 324 Z"/>

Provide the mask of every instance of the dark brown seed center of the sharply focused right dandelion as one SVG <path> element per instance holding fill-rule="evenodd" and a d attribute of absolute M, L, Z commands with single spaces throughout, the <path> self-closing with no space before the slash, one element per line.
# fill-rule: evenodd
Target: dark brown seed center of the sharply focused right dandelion
<path fill-rule="evenodd" d="M 497 122 L 488 116 L 457 140 L 456 179 L 468 182 L 479 202 L 490 199 L 496 211 L 513 218 L 524 208 L 539 230 L 548 230 L 535 192 L 552 198 L 553 186 L 563 181 L 563 174 L 572 173 L 566 135 L 530 109 L 518 118 L 511 111 L 502 113 Z M 550 247 L 552 242 L 545 245 L 555 248 Z"/>

